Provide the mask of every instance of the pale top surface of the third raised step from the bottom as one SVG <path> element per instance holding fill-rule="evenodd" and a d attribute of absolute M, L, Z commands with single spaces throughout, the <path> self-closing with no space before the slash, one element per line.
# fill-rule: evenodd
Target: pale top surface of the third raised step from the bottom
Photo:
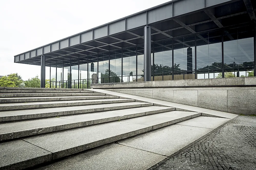
<path fill-rule="evenodd" d="M 35 109 L 30 109 L 30 110 L 1 111 L 0 112 L 0 117 L 28 115 L 28 114 L 39 114 L 39 113 L 63 112 L 63 111 L 83 110 L 83 109 L 95 109 L 95 108 L 137 105 L 137 104 L 148 104 L 148 103 L 144 103 L 144 102 L 123 102 L 123 103 L 96 104 L 96 105 L 86 105 L 86 106 L 70 106 L 70 107 L 57 107 L 57 108 L 35 108 Z"/>

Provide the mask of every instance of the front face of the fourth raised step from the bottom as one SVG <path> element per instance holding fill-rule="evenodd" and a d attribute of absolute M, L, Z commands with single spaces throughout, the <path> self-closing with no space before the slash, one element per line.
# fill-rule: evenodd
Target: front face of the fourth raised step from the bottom
<path fill-rule="evenodd" d="M 51 103 L 51 104 L 26 104 L 18 106 L 0 106 L 0 110 L 18 110 L 18 109 L 35 109 L 35 108 L 48 108 L 48 107 L 67 107 L 67 106 L 81 106 L 91 104 L 108 104 L 108 103 L 122 103 L 134 102 L 134 99 L 127 100 L 106 100 L 106 101 L 87 101 L 87 102 L 72 102 L 72 103 Z"/>

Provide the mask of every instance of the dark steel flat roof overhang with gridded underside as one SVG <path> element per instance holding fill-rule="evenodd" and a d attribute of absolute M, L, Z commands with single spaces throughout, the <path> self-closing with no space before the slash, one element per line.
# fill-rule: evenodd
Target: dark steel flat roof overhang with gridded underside
<path fill-rule="evenodd" d="M 173 0 L 14 56 L 15 63 L 46 66 L 143 44 L 144 27 L 152 41 L 215 30 L 256 20 L 253 0 Z"/>

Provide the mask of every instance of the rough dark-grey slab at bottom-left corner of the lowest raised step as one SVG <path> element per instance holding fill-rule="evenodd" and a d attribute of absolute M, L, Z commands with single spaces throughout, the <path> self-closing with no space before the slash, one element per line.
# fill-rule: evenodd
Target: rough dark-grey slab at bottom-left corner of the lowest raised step
<path fill-rule="evenodd" d="M 51 152 L 23 140 L 0 143 L 0 169 L 18 170 L 49 162 Z"/>

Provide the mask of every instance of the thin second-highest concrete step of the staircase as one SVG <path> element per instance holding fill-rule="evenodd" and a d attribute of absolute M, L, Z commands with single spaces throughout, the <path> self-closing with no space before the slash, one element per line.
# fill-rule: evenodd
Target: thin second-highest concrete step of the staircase
<path fill-rule="evenodd" d="M 0 93 L 92 93 L 90 90 L 0 90 Z"/>

